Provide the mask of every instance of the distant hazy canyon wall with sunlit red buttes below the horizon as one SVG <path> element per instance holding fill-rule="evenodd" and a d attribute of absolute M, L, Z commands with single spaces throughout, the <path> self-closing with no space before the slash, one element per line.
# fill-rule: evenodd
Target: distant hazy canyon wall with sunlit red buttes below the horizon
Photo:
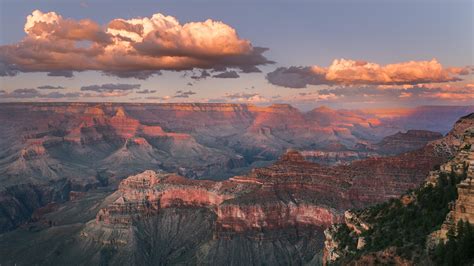
<path fill-rule="evenodd" d="M 225 179 L 290 147 L 316 162 L 348 163 L 374 155 L 361 142 L 400 129 L 359 111 L 284 104 L 15 103 L 0 105 L 0 123 L 2 186 L 66 178 L 74 191 L 146 169 Z"/>

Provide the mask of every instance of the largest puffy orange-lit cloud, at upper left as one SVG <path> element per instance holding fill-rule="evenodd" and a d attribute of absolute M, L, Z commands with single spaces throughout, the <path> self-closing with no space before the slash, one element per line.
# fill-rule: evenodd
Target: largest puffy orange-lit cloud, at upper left
<path fill-rule="evenodd" d="M 208 19 L 181 24 L 160 13 L 151 17 L 111 20 L 99 25 L 90 19 L 63 18 L 55 12 L 33 11 L 26 37 L 0 46 L 0 75 L 47 72 L 72 77 L 76 71 L 146 79 L 161 70 L 234 68 L 256 72 L 272 64 L 241 39 L 231 26 Z"/>

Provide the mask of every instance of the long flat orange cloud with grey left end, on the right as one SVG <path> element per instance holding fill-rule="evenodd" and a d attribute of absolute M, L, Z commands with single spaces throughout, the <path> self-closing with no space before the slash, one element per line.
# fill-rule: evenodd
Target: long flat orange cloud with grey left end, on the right
<path fill-rule="evenodd" d="M 307 85 L 406 85 L 459 81 L 466 67 L 443 68 L 436 60 L 379 65 L 366 61 L 336 59 L 327 67 L 280 67 L 267 74 L 274 85 L 306 88 Z"/>

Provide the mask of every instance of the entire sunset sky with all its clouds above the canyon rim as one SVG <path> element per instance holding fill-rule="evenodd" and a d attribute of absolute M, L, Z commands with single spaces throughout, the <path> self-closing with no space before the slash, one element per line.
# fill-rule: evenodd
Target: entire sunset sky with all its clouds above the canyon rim
<path fill-rule="evenodd" d="M 473 1 L 0 1 L 0 101 L 474 104 Z"/>

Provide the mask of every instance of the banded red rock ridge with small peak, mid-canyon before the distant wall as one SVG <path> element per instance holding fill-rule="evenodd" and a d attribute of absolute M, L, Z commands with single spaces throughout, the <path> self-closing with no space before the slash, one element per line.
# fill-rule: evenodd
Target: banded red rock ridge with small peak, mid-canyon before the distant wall
<path fill-rule="evenodd" d="M 342 221 L 346 209 L 399 196 L 417 186 L 443 160 L 443 154 L 427 147 L 395 157 L 325 166 L 288 150 L 275 164 L 226 181 L 190 180 L 145 171 L 121 182 L 109 198 L 113 203 L 98 212 L 84 237 L 128 245 L 133 236 L 97 232 L 129 230 L 169 209 L 180 212 L 191 208 L 213 214 L 212 235 L 216 241 L 234 241 L 242 236 L 257 242 L 273 241 L 282 234 L 293 239 L 295 232 L 306 230 L 318 232 L 314 233 L 316 239 L 321 239 L 322 229 Z M 321 249 L 318 243 L 313 256 Z M 207 258 L 216 251 L 201 252 Z"/>

